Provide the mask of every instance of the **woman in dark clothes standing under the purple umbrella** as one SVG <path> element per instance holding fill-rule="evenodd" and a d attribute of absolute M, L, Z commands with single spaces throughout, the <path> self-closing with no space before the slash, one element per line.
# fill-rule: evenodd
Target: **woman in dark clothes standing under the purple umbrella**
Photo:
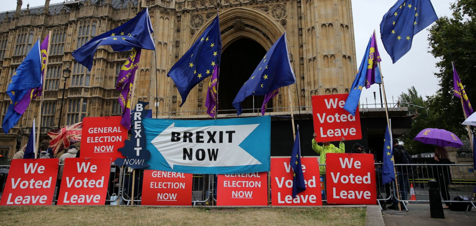
<path fill-rule="evenodd" d="M 450 161 L 448 158 L 448 151 L 446 151 L 443 147 L 436 147 L 435 149 L 435 156 L 433 157 L 434 160 L 432 164 L 454 164 L 454 162 Z M 448 192 L 448 185 L 451 182 L 451 173 L 449 166 L 433 166 L 433 177 L 438 181 L 440 184 L 441 196 L 443 200 L 449 201 L 449 192 Z M 444 209 L 449 209 L 451 203 L 445 202 L 446 206 L 443 207 Z"/>

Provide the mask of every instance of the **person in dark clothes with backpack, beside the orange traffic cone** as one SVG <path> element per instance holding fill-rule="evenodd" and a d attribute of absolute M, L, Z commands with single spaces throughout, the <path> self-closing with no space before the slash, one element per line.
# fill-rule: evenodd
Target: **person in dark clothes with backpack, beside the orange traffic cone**
<path fill-rule="evenodd" d="M 397 139 L 393 139 L 393 158 L 395 164 L 410 164 L 413 163 L 412 157 L 408 154 L 408 150 L 403 146 L 398 144 Z M 398 209 L 398 200 L 407 200 L 408 193 L 408 169 L 407 166 L 397 166 L 395 173 L 397 174 L 398 182 L 398 193 L 399 197 L 394 196 L 392 198 L 392 205 L 387 207 L 389 209 Z M 393 187 L 395 193 L 397 192 L 397 187 L 394 184 Z M 395 194 L 394 193 L 394 194 Z"/>

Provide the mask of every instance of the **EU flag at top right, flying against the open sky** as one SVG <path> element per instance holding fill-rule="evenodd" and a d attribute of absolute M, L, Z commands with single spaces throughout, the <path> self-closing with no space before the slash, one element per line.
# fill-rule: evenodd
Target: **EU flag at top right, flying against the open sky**
<path fill-rule="evenodd" d="M 413 36 L 438 19 L 430 0 L 398 0 L 380 22 L 380 36 L 393 63 L 412 47 Z"/>

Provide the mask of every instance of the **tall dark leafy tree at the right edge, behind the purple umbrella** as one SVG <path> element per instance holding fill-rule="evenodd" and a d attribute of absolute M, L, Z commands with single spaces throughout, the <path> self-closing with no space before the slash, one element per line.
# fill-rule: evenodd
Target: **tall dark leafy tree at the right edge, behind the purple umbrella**
<path fill-rule="evenodd" d="M 440 59 L 436 63 L 439 72 L 437 93 L 428 97 L 428 108 L 435 117 L 433 127 L 456 133 L 462 140 L 468 139 L 461 101 L 453 95 L 454 61 L 459 77 L 465 86 L 469 100 L 476 101 L 476 0 L 457 0 L 450 4 L 451 17 L 442 17 L 430 29 L 428 41 L 430 53 Z M 451 50 L 448 51 L 448 48 Z"/>

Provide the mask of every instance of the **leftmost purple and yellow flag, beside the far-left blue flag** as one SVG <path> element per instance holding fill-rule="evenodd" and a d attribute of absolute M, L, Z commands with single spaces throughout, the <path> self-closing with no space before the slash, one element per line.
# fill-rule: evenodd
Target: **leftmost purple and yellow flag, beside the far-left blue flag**
<path fill-rule="evenodd" d="M 44 83 L 44 72 L 46 67 L 46 57 L 48 55 L 48 38 L 50 35 L 47 35 L 45 40 L 40 45 L 40 57 L 41 57 L 41 84 Z M 30 104 L 32 99 L 35 99 L 37 96 L 41 96 L 42 87 L 31 88 L 26 95 L 21 98 L 21 100 L 13 107 L 17 113 L 23 114 Z"/>

